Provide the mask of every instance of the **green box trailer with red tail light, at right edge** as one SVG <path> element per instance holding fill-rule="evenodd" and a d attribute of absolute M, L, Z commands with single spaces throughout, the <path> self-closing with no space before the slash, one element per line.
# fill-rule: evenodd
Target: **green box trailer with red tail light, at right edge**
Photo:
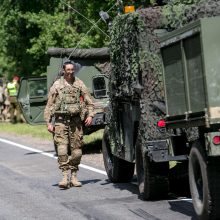
<path fill-rule="evenodd" d="M 178 133 L 181 142 L 168 136 L 159 158 L 163 161 L 178 155 L 188 159 L 190 191 L 200 219 L 220 218 L 219 37 L 220 17 L 215 17 L 200 19 L 161 38 L 164 125 Z M 190 128 L 197 132 L 192 143 L 183 138 L 184 130 Z M 175 154 L 180 147 L 185 153 Z"/>

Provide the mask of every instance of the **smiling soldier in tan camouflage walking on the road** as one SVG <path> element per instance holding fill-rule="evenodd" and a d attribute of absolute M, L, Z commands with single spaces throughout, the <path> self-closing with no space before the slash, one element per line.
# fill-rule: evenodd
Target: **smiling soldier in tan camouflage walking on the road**
<path fill-rule="evenodd" d="M 86 126 L 91 125 L 94 116 L 90 93 L 84 83 L 74 75 L 76 67 L 77 64 L 72 61 L 64 63 L 64 74 L 50 88 L 44 112 L 47 129 L 54 132 L 54 142 L 57 145 L 59 169 L 63 174 L 63 179 L 59 182 L 60 188 L 68 188 L 69 170 L 70 185 L 82 185 L 76 178 L 82 157 L 82 125 L 83 122 Z M 82 100 L 84 105 L 81 103 Z M 55 124 L 52 122 L 54 117 Z M 70 156 L 68 145 L 71 150 Z"/>

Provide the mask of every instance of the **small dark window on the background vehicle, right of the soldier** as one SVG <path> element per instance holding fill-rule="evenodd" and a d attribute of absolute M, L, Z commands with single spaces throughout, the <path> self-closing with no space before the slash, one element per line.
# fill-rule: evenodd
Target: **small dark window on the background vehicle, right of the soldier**
<path fill-rule="evenodd" d="M 108 79 L 104 75 L 95 76 L 92 79 L 92 90 L 94 98 L 101 99 L 108 97 Z"/>

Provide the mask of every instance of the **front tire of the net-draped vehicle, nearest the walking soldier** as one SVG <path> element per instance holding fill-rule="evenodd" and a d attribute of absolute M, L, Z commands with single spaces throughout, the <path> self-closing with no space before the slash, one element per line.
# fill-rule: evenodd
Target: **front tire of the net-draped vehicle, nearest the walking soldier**
<path fill-rule="evenodd" d="M 134 175 L 134 163 L 114 156 L 110 147 L 110 135 L 105 128 L 102 139 L 102 153 L 108 178 L 113 183 L 130 182 Z"/>

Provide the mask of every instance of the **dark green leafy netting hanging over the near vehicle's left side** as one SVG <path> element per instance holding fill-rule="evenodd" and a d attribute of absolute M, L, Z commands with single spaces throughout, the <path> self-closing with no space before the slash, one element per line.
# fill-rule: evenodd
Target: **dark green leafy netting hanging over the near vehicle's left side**
<path fill-rule="evenodd" d="M 132 83 L 136 80 L 139 64 L 139 32 L 143 23 L 137 13 L 118 16 L 111 28 L 110 59 L 112 65 L 110 89 L 114 97 L 134 95 Z"/>

